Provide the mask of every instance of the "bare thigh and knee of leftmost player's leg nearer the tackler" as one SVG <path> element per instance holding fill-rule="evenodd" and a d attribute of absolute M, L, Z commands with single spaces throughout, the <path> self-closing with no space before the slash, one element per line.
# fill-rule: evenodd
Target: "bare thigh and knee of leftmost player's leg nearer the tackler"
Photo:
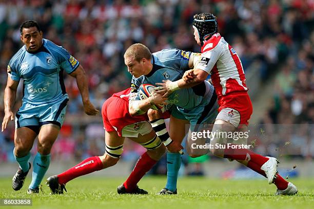
<path fill-rule="evenodd" d="M 40 133 L 38 134 L 38 152 L 43 155 L 48 155 L 55 142 L 58 134 L 60 132 L 60 127 L 53 123 L 44 124 Z"/>

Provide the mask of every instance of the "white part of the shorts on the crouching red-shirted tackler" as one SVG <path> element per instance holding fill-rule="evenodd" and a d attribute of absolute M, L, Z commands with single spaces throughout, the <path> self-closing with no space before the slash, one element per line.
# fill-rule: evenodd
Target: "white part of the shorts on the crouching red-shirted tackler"
<path fill-rule="evenodd" d="M 122 129 L 122 136 L 123 137 L 138 137 L 139 134 L 145 135 L 152 131 L 152 127 L 150 122 L 148 121 L 141 121 L 135 122 L 128 126 L 123 127 Z"/>

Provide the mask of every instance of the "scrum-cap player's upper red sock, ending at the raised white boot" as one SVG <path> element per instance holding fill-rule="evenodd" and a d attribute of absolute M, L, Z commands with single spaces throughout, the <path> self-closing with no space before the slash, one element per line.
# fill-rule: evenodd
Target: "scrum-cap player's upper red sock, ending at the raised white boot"
<path fill-rule="evenodd" d="M 226 148 L 224 153 L 224 158 L 230 158 L 233 160 L 248 160 L 260 165 L 260 167 L 268 160 L 267 157 L 254 153 L 248 149 Z"/>

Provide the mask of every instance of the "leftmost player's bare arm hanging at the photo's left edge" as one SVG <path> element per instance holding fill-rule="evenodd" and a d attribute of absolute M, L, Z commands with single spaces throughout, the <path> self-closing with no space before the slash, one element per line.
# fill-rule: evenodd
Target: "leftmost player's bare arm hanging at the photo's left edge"
<path fill-rule="evenodd" d="M 16 98 L 16 90 L 18 86 L 18 81 L 12 80 L 8 77 L 7 86 L 4 94 L 4 106 L 5 106 L 5 116 L 2 122 L 2 130 L 4 131 L 7 128 L 8 123 L 11 120 L 14 120 L 14 114 L 12 112 L 12 107 Z"/>

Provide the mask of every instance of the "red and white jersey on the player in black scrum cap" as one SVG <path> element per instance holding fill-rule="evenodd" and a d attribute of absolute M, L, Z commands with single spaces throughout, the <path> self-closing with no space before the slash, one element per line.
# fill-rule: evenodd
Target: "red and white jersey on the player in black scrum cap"
<path fill-rule="evenodd" d="M 239 56 L 219 33 L 204 41 L 201 59 L 194 69 L 211 74 L 218 98 L 248 90 Z"/>

